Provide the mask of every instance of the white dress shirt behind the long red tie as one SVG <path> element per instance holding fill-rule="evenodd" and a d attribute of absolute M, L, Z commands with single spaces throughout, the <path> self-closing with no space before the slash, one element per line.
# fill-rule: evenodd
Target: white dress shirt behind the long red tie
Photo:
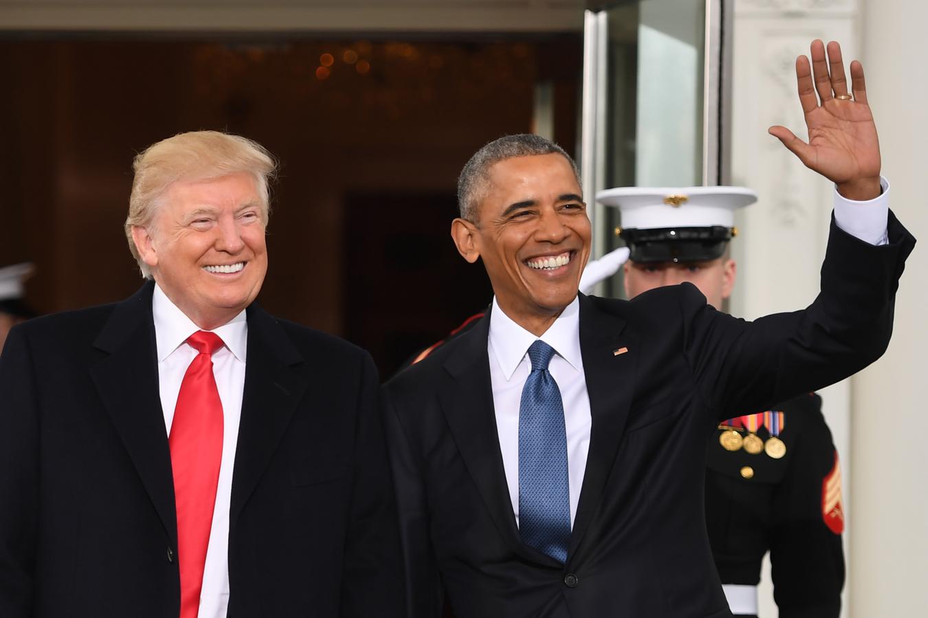
<path fill-rule="evenodd" d="M 171 435 L 174 407 L 187 367 L 198 352 L 187 343 L 187 337 L 200 330 L 183 311 L 165 296 L 155 284 L 151 302 L 158 345 L 158 387 L 164 427 Z M 223 404 L 223 456 L 216 487 L 213 528 L 206 550 L 206 567 L 200 591 L 200 618 L 225 618 L 229 598 L 228 536 L 229 503 L 232 498 L 232 467 L 238 442 L 238 421 L 241 418 L 241 397 L 245 387 L 245 356 L 248 348 L 248 322 L 245 311 L 231 322 L 213 330 L 226 344 L 213 353 L 213 376 Z"/>

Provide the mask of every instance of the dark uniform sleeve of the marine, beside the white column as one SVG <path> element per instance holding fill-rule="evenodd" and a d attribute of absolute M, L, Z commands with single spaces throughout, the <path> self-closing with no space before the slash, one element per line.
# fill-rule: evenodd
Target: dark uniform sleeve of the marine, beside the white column
<path fill-rule="evenodd" d="M 823 486 L 837 456 L 821 400 L 814 397 L 810 403 L 812 410 L 797 411 L 804 415 L 803 431 L 772 505 L 771 575 L 781 618 L 838 618 L 841 613 L 844 551 L 840 529 L 826 525 L 822 506 Z"/>

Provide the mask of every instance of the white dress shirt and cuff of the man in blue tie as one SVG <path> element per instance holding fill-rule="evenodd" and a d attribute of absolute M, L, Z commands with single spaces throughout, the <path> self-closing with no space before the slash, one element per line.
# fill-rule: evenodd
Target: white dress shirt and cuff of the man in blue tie
<path fill-rule="evenodd" d="M 888 243 L 886 223 L 889 217 L 889 183 L 881 178 L 883 193 L 867 202 L 845 199 L 834 192 L 834 220 L 844 232 L 852 234 L 870 245 Z M 557 320 L 540 337 L 513 322 L 499 305 L 496 297 L 490 313 L 490 334 L 487 353 L 490 360 L 490 384 L 493 388 L 493 406 L 496 410 L 496 433 L 499 450 L 503 455 L 503 469 L 509 486 L 509 499 L 516 523 L 519 523 L 519 406 L 522 387 L 531 372 L 528 348 L 541 339 L 553 347 L 548 370 L 558 388 L 564 406 L 564 427 L 567 432 L 567 470 L 571 495 L 571 526 L 580 488 L 586 472 L 586 455 L 592 417 L 589 395 L 586 392 L 586 375 L 580 355 L 580 302 L 563 310 Z"/>

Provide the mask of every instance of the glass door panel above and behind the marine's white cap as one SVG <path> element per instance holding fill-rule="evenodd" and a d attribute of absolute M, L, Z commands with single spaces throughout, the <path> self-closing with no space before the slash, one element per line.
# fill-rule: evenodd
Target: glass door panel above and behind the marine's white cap
<path fill-rule="evenodd" d="M 715 36 L 709 26 L 719 7 L 718 0 L 589 3 L 580 150 L 587 204 L 613 186 L 717 183 L 717 149 L 707 147 L 717 140 L 717 121 L 707 120 L 718 116 L 720 59 L 707 53 L 717 47 L 707 32 Z M 618 212 L 597 204 L 591 214 L 594 257 L 621 246 Z M 621 290 L 613 277 L 598 293 Z"/>

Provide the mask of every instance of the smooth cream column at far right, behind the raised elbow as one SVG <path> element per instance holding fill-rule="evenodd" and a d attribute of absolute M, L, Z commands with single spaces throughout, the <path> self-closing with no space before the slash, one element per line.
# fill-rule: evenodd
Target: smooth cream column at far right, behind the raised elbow
<path fill-rule="evenodd" d="M 922 245 L 900 284 L 889 350 L 853 385 L 854 618 L 928 615 L 926 24 L 922 0 L 867 0 L 860 21 L 892 208 Z"/>

